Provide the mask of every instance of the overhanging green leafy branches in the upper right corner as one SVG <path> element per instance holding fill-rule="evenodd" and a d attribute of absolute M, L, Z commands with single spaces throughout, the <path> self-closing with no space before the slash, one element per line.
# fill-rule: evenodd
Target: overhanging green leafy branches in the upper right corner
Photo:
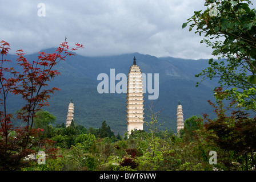
<path fill-rule="evenodd" d="M 201 43 L 213 48 L 218 60 L 209 60 L 210 67 L 199 73 L 206 78 L 219 77 L 219 86 L 229 88 L 230 100 L 238 106 L 256 110 L 256 11 L 249 0 L 209 0 L 205 11 L 195 11 L 182 28 L 204 34 Z M 213 13 L 214 11 L 214 13 Z M 221 38 L 221 40 L 219 40 Z M 215 42 L 213 42 L 215 39 Z M 198 83 L 199 84 L 199 83 Z"/>

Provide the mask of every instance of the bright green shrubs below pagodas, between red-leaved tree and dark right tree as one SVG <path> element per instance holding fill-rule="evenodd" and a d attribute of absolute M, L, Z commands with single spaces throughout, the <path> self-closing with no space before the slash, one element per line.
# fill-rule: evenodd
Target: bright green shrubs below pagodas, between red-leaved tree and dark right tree
<path fill-rule="evenodd" d="M 188 119 L 186 125 L 194 126 L 194 119 Z M 111 131 L 106 122 L 100 129 L 56 127 L 51 138 L 54 147 L 59 148 L 56 157 L 47 158 L 43 166 L 32 162 L 24 170 L 211 170 L 207 164 L 209 148 L 202 140 L 195 137 L 187 143 L 171 131 L 159 131 L 155 117 L 149 125 L 150 133 L 131 131 L 125 140 L 121 136 L 119 140 L 114 136 L 102 137 L 102 129 Z"/>

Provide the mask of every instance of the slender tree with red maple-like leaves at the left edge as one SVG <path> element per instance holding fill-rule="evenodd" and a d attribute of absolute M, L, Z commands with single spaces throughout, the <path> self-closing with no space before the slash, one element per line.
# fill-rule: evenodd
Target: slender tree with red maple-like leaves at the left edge
<path fill-rule="evenodd" d="M 50 94 L 53 94 L 58 88 L 49 88 L 48 82 L 60 73 L 54 70 L 59 61 L 64 61 L 66 56 L 74 55 L 73 51 L 83 47 L 81 44 L 75 44 L 76 48 L 71 48 L 65 42 L 60 44 L 55 53 L 39 52 L 37 60 L 29 61 L 25 57 L 22 49 L 16 51 L 16 65 L 22 72 L 15 71 L 13 67 L 8 67 L 10 60 L 4 59 L 9 53 L 10 44 L 1 41 L 1 64 L 0 64 L 0 166 L 2 169 L 17 169 L 25 162 L 23 158 L 31 154 L 36 137 L 39 131 L 33 128 L 35 113 L 43 106 L 47 106 Z M 10 65 L 10 64 L 9 64 Z M 6 67 L 7 66 L 7 67 Z M 17 112 L 17 119 L 23 122 L 24 127 L 14 127 L 14 114 L 7 110 L 7 97 L 15 94 L 22 97 L 25 104 Z M 15 137 L 9 137 L 13 132 Z"/>

